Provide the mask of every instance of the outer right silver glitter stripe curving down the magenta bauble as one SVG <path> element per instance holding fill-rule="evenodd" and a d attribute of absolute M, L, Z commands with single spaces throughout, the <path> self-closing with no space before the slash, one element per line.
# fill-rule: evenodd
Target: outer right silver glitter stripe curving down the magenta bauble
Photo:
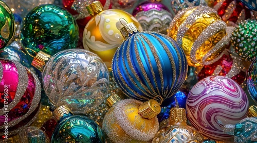
<path fill-rule="evenodd" d="M 28 110 L 28 112 L 26 114 L 24 114 L 23 116 L 16 118 L 16 120 L 13 120 L 11 122 L 8 122 L 8 126 L 15 126 L 16 124 L 18 124 L 19 122 L 21 122 L 22 120 L 24 120 L 26 117 L 28 117 L 35 109 L 36 107 L 38 107 L 39 103 L 40 103 L 40 98 L 41 98 L 41 85 L 40 85 L 40 81 L 38 79 L 38 77 L 36 77 L 36 75 L 31 72 L 27 67 L 26 69 L 31 73 L 31 75 L 34 78 L 34 82 L 35 82 L 35 93 L 34 93 L 34 97 L 32 99 L 30 108 Z M 28 74 L 26 73 L 27 77 Z M 4 128 L 5 125 L 0 126 L 0 129 Z"/>

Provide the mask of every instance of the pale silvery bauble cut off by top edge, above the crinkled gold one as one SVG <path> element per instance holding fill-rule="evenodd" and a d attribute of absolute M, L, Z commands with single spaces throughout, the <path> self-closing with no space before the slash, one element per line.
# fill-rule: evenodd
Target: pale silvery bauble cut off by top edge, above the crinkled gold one
<path fill-rule="evenodd" d="M 199 5 L 206 6 L 207 4 L 205 0 L 171 0 L 171 8 L 175 14 L 180 10 Z"/>

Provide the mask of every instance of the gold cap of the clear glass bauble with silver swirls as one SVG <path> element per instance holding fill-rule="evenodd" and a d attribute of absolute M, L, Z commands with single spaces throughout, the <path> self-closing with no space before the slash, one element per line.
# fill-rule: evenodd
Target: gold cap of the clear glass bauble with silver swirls
<path fill-rule="evenodd" d="M 38 54 L 36 54 L 36 56 L 34 57 L 31 65 L 33 65 L 34 67 L 38 68 L 41 72 L 44 69 L 44 66 L 46 65 L 46 61 L 49 60 L 49 58 L 51 58 L 50 55 L 40 51 Z"/>

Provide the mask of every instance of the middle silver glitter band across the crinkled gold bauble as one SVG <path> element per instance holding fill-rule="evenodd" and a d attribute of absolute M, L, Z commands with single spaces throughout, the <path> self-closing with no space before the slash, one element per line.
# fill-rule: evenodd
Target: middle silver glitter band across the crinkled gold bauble
<path fill-rule="evenodd" d="M 196 60 L 195 54 L 196 51 L 199 49 L 199 47 L 207 40 L 209 39 L 213 34 L 217 33 L 220 30 L 226 29 L 226 23 L 222 20 L 216 21 L 214 23 L 211 23 L 201 34 L 197 37 L 197 39 L 194 41 L 192 45 L 192 50 L 190 53 L 190 58 L 193 62 L 199 63 Z M 218 43 L 217 43 L 218 44 Z M 211 50 L 211 53 L 213 51 Z M 208 53 L 207 53 L 208 54 Z"/>

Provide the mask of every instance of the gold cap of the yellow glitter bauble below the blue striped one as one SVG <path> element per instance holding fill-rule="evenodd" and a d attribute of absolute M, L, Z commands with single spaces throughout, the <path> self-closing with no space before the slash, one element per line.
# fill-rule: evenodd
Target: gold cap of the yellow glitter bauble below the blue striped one
<path fill-rule="evenodd" d="M 144 118 L 151 119 L 160 113 L 160 104 L 156 100 L 150 99 L 138 106 L 138 113 Z"/>

